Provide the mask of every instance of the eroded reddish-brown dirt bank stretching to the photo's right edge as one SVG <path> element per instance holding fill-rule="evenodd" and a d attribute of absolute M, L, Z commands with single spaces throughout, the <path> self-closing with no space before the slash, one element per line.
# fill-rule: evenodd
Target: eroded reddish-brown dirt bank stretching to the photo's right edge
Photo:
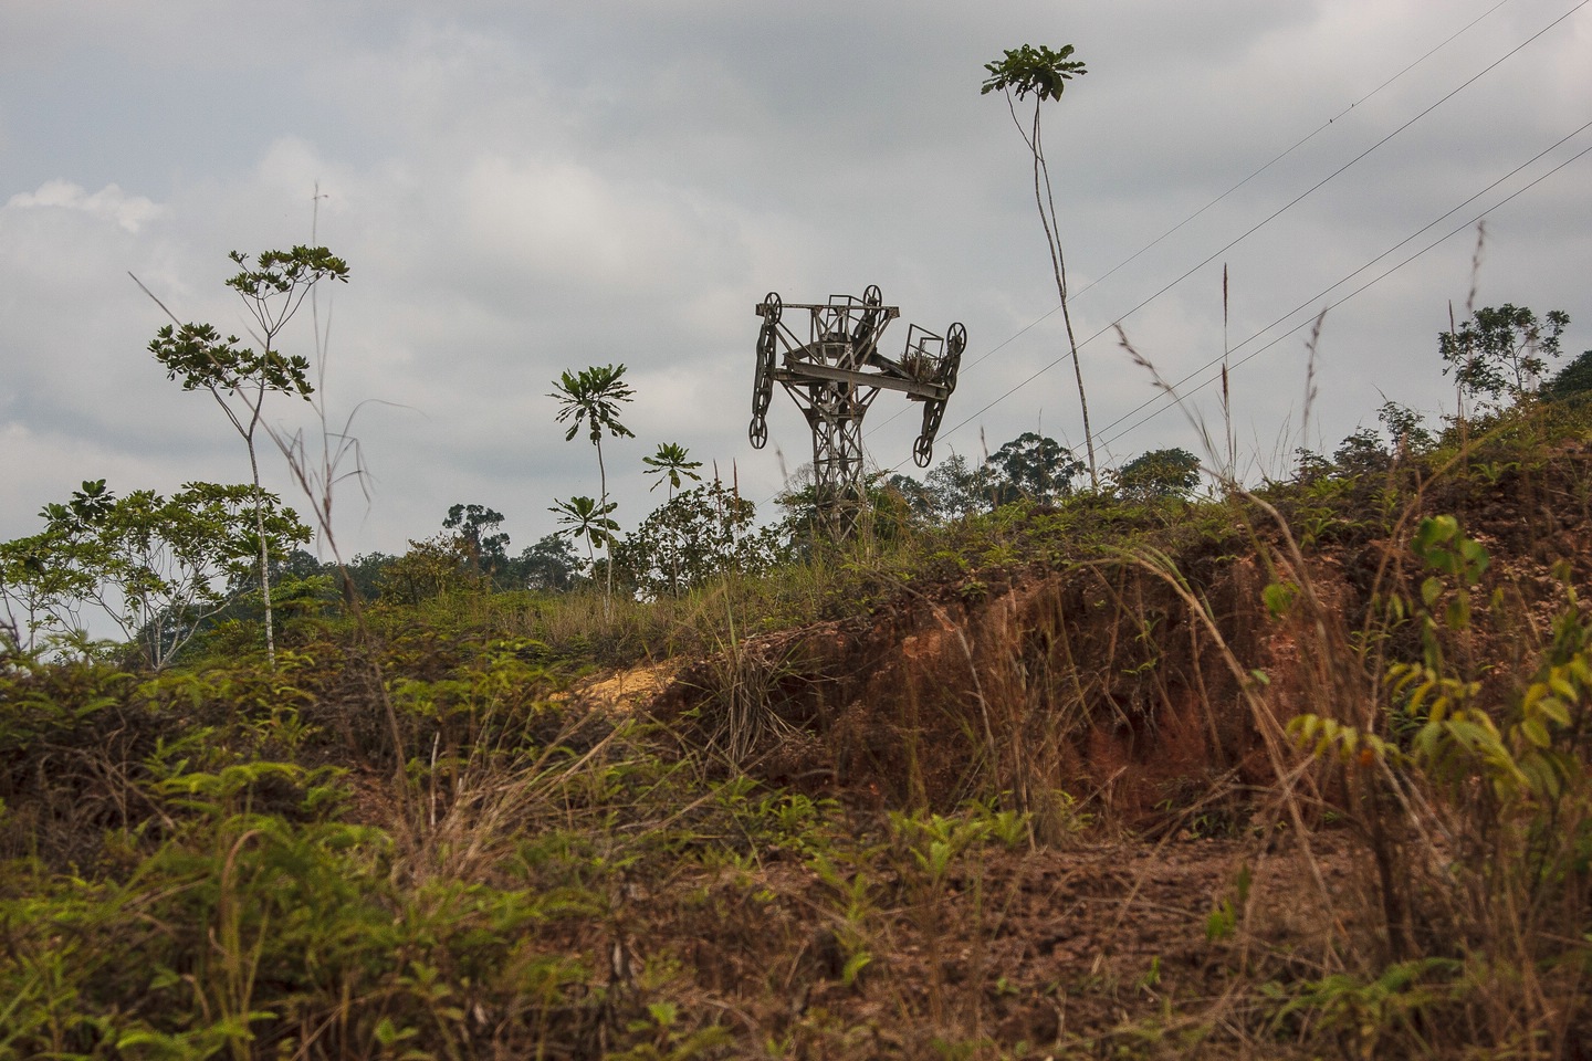
<path fill-rule="evenodd" d="M 1581 582 L 1592 571 L 1584 461 L 1567 452 L 1361 523 L 1337 517 L 1297 552 L 1310 515 L 1299 506 L 1286 533 L 1251 511 L 1178 557 L 1097 554 L 898 585 L 871 614 L 686 667 L 653 711 L 699 709 L 721 743 L 755 744 L 756 768 L 782 784 L 944 808 L 995 776 L 1143 826 L 1157 806 L 1270 784 L 1294 714 L 1368 708 L 1383 660 L 1415 647 L 1387 601 L 1417 597 L 1407 541 L 1423 514 L 1458 514 L 1498 555 L 1481 600 L 1501 593 L 1498 616 L 1532 619 L 1522 630 L 1479 617 L 1477 670 L 1508 682 L 1563 601 L 1554 563 L 1570 560 Z M 1382 504 L 1385 484 L 1361 490 L 1360 504 Z M 1283 595 L 1269 609 L 1270 584 Z"/>

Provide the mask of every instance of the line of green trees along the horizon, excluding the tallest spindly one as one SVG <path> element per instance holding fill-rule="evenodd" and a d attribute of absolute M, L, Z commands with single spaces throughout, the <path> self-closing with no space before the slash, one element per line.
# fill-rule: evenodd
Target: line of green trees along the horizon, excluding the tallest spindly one
<path fill-rule="evenodd" d="M 259 485 L 256 441 L 264 428 L 293 463 L 291 447 L 264 420 L 264 404 L 271 394 L 307 401 L 315 388 L 309 359 L 285 353 L 280 339 L 315 286 L 345 283 L 349 266 L 325 247 L 253 259 L 234 251 L 231 261 L 239 272 L 226 286 L 253 321 L 253 345 L 172 317 L 148 352 L 183 390 L 212 396 L 244 442 L 250 480 L 193 482 L 170 496 L 151 490 L 118 496 L 103 480 L 92 480 L 68 499 L 46 504 L 41 530 L 0 544 L 0 647 L 99 651 L 84 633 L 86 612 L 99 611 L 153 668 L 167 665 L 207 625 L 226 620 L 256 622 L 274 660 L 279 606 L 315 606 L 339 593 L 350 603 L 416 603 L 462 587 L 565 593 L 600 585 L 611 604 L 615 593 L 677 597 L 724 573 L 763 574 L 820 547 L 810 477 L 798 474 L 775 499 L 778 514 L 759 522 L 734 484 L 704 479 L 702 461 L 678 442 L 661 442 L 640 460 L 640 471 L 654 479 L 651 490 L 667 488 L 664 501 L 624 533 L 618 503 L 610 499 L 603 441 L 635 437 L 622 422 L 635 391 L 626 366 L 608 364 L 564 372 L 549 393 L 557 402 L 554 422 L 567 425 L 565 441 L 584 434 L 597 460 L 597 496 L 554 498 L 552 534 L 511 554 L 501 512 L 457 503 L 438 533 L 411 541 L 403 555 L 373 552 L 322 563 L 302 549 L 310 528 Z M 1592 391 L 1592 352 L 1544 380 L 1568 323 L 1560 310 L 1539 318 L 1514 304 L 1474 310 L 1438 336 L 1442 371 L 1458 393 L 1446 426 L 1434 431 L 1422 414 L 1385 402 L 1380 431 L 1355 431 L 1331 460 L 1297 450 L 1297 476 L 1385 468 L 1517 402 L 1579 401 Z M 871 533 L 904 536 L 1009 504 L 1059 506 L 1079 493 L 1124 504 L 1178 503 L 1199 487 L 1200 471 L 1188 450 L 1159 449 L 1091 474 L 1068 447 L 1024 431 L 979 461 L 952 453 L 922 480 L 872 474 Z"/>

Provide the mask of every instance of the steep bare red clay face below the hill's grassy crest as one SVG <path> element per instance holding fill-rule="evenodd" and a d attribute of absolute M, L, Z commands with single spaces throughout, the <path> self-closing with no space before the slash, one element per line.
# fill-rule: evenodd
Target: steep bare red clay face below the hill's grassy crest
<path fill-rule="evenodd" d="M 1333 571 L 1315 579 L 1344 595 Z M 777 721 L 753 768 L 798 789 L 946 810 L 990 781 L 1043 781 L 1145 822 L 1218 784 L 1269 784 L 1264 733 L 1320 700 L 1302 620 L 1258 608 L 1267 581 L 1229 565 L 1204 592 L 1210 624 L 1135 566 L 1027 571 L 971 600 L 909 592 L 686 668 L 653 711 L 712 727 L 743 697 Z"/>

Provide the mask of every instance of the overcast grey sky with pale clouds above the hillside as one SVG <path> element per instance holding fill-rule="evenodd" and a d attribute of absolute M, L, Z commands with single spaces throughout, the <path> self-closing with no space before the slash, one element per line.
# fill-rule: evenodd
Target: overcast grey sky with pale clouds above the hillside
<path fill-rule="evenodd" d="M 1567 310 L 1567 353 L 1592 347 L 1584 3 L 0 3 L 0 539 L 84 479 L 248 479 L 209 396 L 146 353 L 166 318 L 127 274 L 244 334 L 226 255 L 310 242 L 317 186 L 317 242 L 352 269 L 320 302 L 325 398 L 339 422 L 390 402 L 355 420 L 373 480 L 368 506 L 339 498 L 349 554 L 401 552 L 454 503 L 501 511 L 516 552 L 551 533 L 554 498 L 597 492 L 548 398 L 589 364 L 637 390 L 637 437 L 605 445 L 627 530 L 662 498 L 642 476 L 659 442 L 766 501 L 782 455 L 810 460 L 783 393 L 769 447 L 747 442 L 771 290 L 877 283 L 901 307 L 887 352 L 909 321 L 966 325 L 936 458 L 1028 429 L 1081 455 L 1028 157 L 979 95 L 1022 43 L 1089 65 L 1044 129 L 1102 463 L 1199 452 L 1121 321 L 1189 388 L 1226 344 L 1247 471 L 1280 472 L 1383 398 L 1452 412 L 1436 336 L 1471 296 L 1481 215 L 1476 304 Z M 285 345 L 312 353 L 307 317 Z M 1215 415 L 1208 388 L 1191 404 Z M 880 394 L 872 460 L 917 471 L 917 425 Z M 275 455 L 266 479 L 299 503 Z"/>

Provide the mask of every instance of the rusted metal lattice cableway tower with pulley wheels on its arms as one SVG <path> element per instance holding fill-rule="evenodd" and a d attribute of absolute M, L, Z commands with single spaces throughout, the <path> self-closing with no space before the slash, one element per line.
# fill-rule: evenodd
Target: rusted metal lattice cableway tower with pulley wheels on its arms
<path fill-rule="evenodd" d="M 796 326 L 785 315 L 796 317 Z M 769 441 L 767 412 L 774 383 L 801 406 L 812 428 L 812 474 L 818 520 L 834 541 L 849 538 L 866 506 L 863 490 L 863 417 L 880 390 L 923 402 L 923 429 L 912 460 L 928 468 L 946 401 L 957 388 L 957 369 L 968 345 L 960 323 L 944 336 L 912 325 L 898 361 L 879 353 L 885 326 L 901 315 L 884 305 L 877 285 L 863 297 L 831 294 L 823 304 L 785 305 L 774 291 L 758 302 L 758 375 L 751 390 L 753 449 Z M 806 323 L 806 337 L 798 331 Z"/>

